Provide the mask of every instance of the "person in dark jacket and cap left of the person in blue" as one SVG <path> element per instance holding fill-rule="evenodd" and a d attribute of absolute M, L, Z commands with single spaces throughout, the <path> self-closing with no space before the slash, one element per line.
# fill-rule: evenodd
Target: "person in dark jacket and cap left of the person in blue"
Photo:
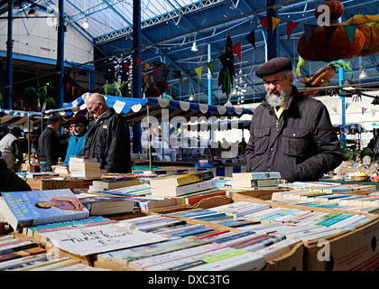
<path fill-rule="evenodd" d="M 42 172 L 52 172 L 59 158 L 59 117 L 49 117 L 47 126 L 38 139 L 38 163 Z"/>

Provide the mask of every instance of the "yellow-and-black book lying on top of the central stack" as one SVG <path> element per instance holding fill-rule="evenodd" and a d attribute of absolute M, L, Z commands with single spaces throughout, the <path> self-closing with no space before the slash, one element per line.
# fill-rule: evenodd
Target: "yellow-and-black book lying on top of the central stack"
<path fill-rule="evenodd" d="M 150 184 L 152 188 L 160 186 L 183 186 L 194 182 L 203 182 L 212 180 L 214 178 L 213 172 L 186 172 L 183 174 L 170 175 L 157 179 L 151 179 Z"/>

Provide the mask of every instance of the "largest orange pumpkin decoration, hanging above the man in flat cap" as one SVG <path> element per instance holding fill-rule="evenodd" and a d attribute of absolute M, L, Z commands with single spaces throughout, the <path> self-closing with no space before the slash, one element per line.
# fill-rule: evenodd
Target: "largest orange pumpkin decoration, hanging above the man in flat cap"
<path fill-rule="evenodd" d="M 326 2 L 335 3 L 339 1 Z M 339 5 L 337 6 L 339 7 Z M 333 9 L 330 13 L 332 14 L 332 12 Z M 334 17 L 337 17 L 337 14 Z M 309 42 L 307 42 L 306 33 L 302 33 L 297 46 L 299 55 L 306 61 L 326 62 L 356 57 L 365 44 L 365 35 L 356 29 L 354 41 L 350 42 L 344 25 L 347 23 L 331 23 L 330 26 L 319 26 L 311 33 Z"/>

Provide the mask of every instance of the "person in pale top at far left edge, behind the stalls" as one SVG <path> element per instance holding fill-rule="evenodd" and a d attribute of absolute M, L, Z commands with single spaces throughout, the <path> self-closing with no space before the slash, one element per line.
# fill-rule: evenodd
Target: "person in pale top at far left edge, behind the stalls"
<path fill-rule="evenodd" d="M 20 143 L 21 129 L 14 127 L 9 134 L 5 135 L 0 141 L 0 152 L 8 166 L 8 169 L 14 170 L 23 163 L 23 150 Z"/>

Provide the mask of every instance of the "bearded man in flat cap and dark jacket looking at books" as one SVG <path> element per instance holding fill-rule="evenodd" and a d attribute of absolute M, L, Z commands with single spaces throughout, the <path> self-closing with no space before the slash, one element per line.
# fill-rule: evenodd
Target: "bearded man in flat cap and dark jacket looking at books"
<path fill-rule="evenodd" d="M 291 60 L 265 62 L 255 74 L 263 79 L 265 101 L 254 110 L 246 145 L 247 172 L 281 172 L 288 182 L 319 181 L 343 158 L 327 107 L 292 85 Z"/>

